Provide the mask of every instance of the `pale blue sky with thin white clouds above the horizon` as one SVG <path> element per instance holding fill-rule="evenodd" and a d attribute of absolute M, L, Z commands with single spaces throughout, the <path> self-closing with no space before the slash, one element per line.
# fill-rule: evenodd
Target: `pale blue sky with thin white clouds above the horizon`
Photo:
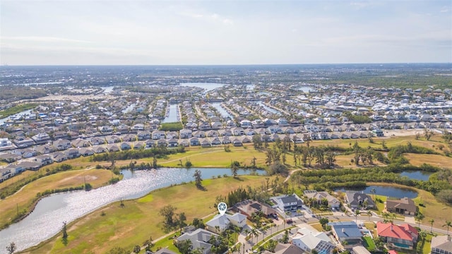
<path fill-rule="evenodd" d="M 452 0 L 0 0 L 1 65 L 452 62 Z"/>

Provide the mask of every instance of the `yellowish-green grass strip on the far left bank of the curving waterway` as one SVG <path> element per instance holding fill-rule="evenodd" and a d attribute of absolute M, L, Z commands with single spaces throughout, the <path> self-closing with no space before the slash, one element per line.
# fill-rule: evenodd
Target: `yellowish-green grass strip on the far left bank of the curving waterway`
<path fill-rule="evenodd" d="M 20 176 L 18 176 L 20 177 Z M 93 188 L 100 187 L 112 177 L 111 171 L 106 169 L 90 169 L 65 171 L 58 174 L 43 177 L 28 183 L 21 191 L 0 200 L 0 225 L 11 221 L 17 210 L 30 207 L 37 193 L 58 188 L 70 188 L 83 185 L 84 181 L 90 183 Z"/>

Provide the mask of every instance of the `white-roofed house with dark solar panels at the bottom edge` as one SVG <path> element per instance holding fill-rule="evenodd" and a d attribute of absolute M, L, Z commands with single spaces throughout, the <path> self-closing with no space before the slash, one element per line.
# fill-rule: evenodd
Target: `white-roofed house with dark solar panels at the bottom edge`
<path fill-rule="evenodd" d="M 292 237 L 292 244 L 307 253 L 312 253 L 313 250 L 316 250 L 319 254 L 330 254 L 335 248 L 329 236 L 324 232 L 313 232 L 305 227 L 299 229 L 297 234 Z"/>

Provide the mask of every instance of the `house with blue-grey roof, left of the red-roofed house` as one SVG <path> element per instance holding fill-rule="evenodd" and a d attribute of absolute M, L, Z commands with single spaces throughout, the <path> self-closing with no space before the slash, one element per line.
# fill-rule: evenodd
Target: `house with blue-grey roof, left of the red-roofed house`
<path fill-rule="evenodd" d="M 362 233 L 355 222 L 330 222 L 328 225 L 334 238 L 345 248 L 362 245 Z"/>

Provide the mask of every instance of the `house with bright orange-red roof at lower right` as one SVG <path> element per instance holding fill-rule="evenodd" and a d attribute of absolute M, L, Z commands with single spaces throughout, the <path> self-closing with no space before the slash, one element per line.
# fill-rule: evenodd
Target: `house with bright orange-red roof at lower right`
<path fill-rule="evenodd" d="M 419 236 L 417 229 L 408 223 L 398 226 L 392 222 L 376 222 L 376 231 L 388 248 L 402 250 L 413 250 Z"/>

